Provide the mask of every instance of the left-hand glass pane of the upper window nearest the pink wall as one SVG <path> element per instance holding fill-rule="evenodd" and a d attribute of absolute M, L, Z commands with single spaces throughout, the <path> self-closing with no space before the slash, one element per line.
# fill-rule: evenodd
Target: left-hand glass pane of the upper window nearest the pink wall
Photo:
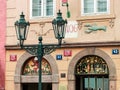
<path fill-rule="evenodd" d="M 41 0 L 32 0 L 32 16 L 41 16 Z"/>

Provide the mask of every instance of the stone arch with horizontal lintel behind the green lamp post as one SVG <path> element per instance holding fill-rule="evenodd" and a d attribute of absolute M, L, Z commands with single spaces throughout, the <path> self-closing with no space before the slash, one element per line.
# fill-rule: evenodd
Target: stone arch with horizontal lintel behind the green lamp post
<path fill-rule="evenodd" d="M 29 82 L 35 82 L 38 83 L 38 76 L 29 76 L 25 77 L 21 74 L 22 67 L 24 65 L 24 62 L 28 60 L 30 57 L 33 57 L 33 55 L 29 53 L 24 53 L 16 64 L 15 69 L 15 76 L 14 76 L 14 83 L 15 83 L 15 90 L 22 90 L 21 89 L 21 83 L 29 83 Z M 42 76 L 42 82 L 52 82 L 52 90 L 58 90 L 58 80 L 59 80 L 59 74 L 58 74 L 58 67 L 54 60 L 54 58 L 51 55 L 46 55 L 44 58 L 49 62 L 51 69 L 52 69 L 52 75 L 51 76 Z"/>

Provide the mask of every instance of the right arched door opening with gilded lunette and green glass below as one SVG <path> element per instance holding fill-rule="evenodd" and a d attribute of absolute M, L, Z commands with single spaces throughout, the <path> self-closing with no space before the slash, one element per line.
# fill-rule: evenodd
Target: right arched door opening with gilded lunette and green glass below
<path fill-rule="evenodd" d="M 87 55 L 75 67 L 75 90 L 109 90 L 107 63 L 99 56 Z"/>

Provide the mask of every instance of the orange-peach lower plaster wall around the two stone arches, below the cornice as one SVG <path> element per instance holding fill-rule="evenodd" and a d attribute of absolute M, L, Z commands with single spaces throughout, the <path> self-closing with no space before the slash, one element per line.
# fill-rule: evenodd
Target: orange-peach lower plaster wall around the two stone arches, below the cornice
<path fill-rule="evenodd" d="M 120 47 L 116 47 L 116 48 L 120 48 Z M 65 57 L 63 55 L 63 51 L 65 49 L 72 50 L 72 56 Z M 65 49 L 63 48 L 61 50 L 56 50 L 55 52 L 53 52 L 51 54 L 51 56 L 55 59 L 55 62 L 56 62 L 57 67 L 58 67 L 59 86 L 64 86 L 64 87 L 68 88 L 68 86 L 69 86 L 69 84 L 68 84 L 68 75 L 69 75 L 68 74 L 68 69 L 70 67 L 69 66 L 70 62 L 75 57 L 75 55 L 77 55 L 79 52 L 85 50 L 86 48 L 65 48 Z M 113 55 L 111 53 L 111 50 L 113 49 L 112 47 L 107 47 L 107 48 L 102 48 L 101 47 L 101 48 L 96 48 L 96 49 L 102 50 L 104 53 L 106 53 L 112 59 L 112 62 L 115 65 L 115 68 L 116 68 L 116 76 L 113 77 L 114 80 L 116 81 L 116 84 L 115 84 L 116 89 L 115 90 L 119 90 L 119 86 L 120 86 L 120 83 L 119 83 L 119 80 L 120 80 L 120 78 L 119 78 L 119 72 L 120 72 L 120 70 L 119 70 L 119 68 L 120 68 L 119 59 L 120 59 L 120 56 L 119 55 Z M 19 64 L 21 64 L 21 63 L 17 63 L 17 62 L 22 57 L 22 55 L 24 55 L 24 53 L 25 53 L 25 51 L 23 51 L 23 50 L 7 51 L 7 54 L 6 54 L 6 90 L 9 90 L 9 88 L 11 88 L 12 90 L 15 90 L 15 83 L 14 83 L 15 69 L 16 69 L 16 67 L 19 67 Z M 12 55 L 12 54 L 17 55 L 17 61 L 10 61 L 10 55 Z M 56 60 L 56 54 L 63 55 L 63 59 L 62 60 Z M 112 64 L 109 65 L 109 66 L 112 66 Z M 61 78 L 61 73 L 65 73 L 66 77 Z M 110 89 L 110 90 L 112 90 L 112 89 Z"/>

